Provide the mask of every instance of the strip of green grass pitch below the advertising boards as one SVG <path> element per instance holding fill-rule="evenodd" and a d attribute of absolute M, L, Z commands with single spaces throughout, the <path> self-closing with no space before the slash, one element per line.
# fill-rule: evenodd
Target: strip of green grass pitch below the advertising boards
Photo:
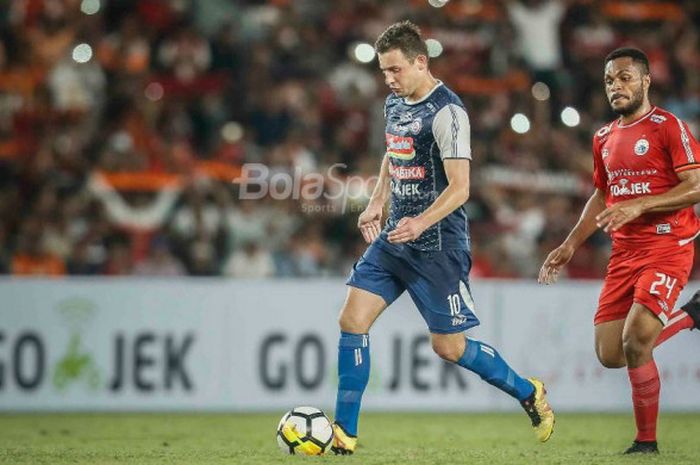
<path fill-rule="evenodd" d="M 277 414 L 0 415 L 0 464 L 693 464 L 700 414 L 663 413 L 660 456 L 626 457 L 631 415 L 557 415 L 536 442 L 524 414 L 367 413 L 351 457 L 285 456 Z"/>

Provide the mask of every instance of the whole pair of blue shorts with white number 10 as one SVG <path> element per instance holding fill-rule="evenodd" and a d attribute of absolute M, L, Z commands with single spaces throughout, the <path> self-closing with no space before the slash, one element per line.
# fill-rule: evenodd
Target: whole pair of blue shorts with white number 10
<path fill-rule="evenodd" d="M 467 250 L 422 252 L 377 238 L 353 266 L 347 284 L 380 296 L 387 305 L 404 290 L 431 333 L 459 333 L 477 326 L 469 290 Z"/>

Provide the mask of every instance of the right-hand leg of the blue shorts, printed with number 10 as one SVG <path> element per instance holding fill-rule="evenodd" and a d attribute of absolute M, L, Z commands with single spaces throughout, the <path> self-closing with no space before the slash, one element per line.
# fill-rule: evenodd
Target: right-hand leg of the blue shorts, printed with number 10
<path fill-rule="evenodd" d="M 433 334 L 463 333 L 477 326 L 469 287 L 471 257 L 466 250 L 418 253 L 406 283 L 411 299 Z"/>

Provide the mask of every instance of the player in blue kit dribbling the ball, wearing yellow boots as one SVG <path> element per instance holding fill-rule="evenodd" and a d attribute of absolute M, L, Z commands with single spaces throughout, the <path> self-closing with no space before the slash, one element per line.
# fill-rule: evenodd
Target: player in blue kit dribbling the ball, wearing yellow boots
<path fill-rule="evenodd" d="M 357 445 L 362 394 L 369 380 L 369 329 L 407 290 L 428 325 L 433 350 L 517 399 L 537 438 L 554 430 L 541 381 L 520 377 L 493 347 L 464 332 L 479 324 L 469 290 L 467 215 L 469 119 L 454 92 L 428 69 L 428 50 L 409 21 L 384 31 L 375 49 L 391 90 L 384 106 L 386 154 L 358 227 L 366 252 L 353 267 L 340 312 L 338 394 L 332 449 Z M 383 207 L 391 209 L 381 228 Z"/>

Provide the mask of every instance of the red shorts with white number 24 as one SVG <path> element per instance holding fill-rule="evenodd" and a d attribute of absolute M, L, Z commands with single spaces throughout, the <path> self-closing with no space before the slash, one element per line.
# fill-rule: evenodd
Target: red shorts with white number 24
<path fill-rule="evenodd" d="M 633 303 L 666 324 L 693 266 L 693 244 L 673 249 L 613 248 L 594 324 L 627 317 Z"/>

